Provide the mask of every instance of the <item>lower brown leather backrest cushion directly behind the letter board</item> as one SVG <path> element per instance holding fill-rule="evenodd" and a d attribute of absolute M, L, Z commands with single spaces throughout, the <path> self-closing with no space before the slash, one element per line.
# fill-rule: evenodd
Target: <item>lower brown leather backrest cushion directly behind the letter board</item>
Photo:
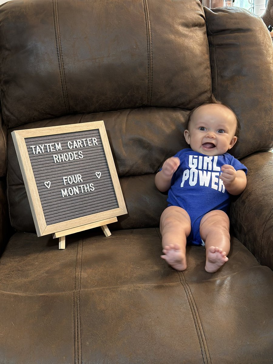
<path fill-rule="evenodd" d="M 128 214 L 117 228 L 155 227 L 166 205 L 166 195 L 154 184 L 163 162 L 187 147 L 183 132 L 188 111 L 146 107 L 95 114 L 69 115 L 17 127 L 28 129 L 104 120 Z M 35 232 L 27 193 L 11 132 L 8 133 L 8 203 L 12 226 Z M 114 225 L 114 226 L 115 226 Z M 111 228 L 113 228 L 111 224 Z"/>

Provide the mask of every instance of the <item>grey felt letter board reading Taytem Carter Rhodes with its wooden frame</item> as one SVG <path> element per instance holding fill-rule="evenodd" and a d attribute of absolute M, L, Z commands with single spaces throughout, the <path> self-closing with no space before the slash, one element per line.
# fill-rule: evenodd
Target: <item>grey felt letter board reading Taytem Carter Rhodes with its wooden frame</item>
<path fill-rule="evenodd" d="M 38 236 L 127 213 L 103 121 L 12 138 Z"/>

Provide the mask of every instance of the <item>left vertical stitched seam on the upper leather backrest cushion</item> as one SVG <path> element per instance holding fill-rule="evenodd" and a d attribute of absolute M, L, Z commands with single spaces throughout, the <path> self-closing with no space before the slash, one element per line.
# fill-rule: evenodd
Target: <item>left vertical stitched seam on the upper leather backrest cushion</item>
<path fill-rule="evenodd" d="M 61 43 L 61 38 L 60 38 L 57 0 L 53 0 L 53 14 L 54 14 L 56 48 L 57 48 L 59 70 L 60 70 L 60 77 L 61 77 L 61 84 L 62 84 L 62 91 L 63 91 L 63 98 L 64 98 L 64 106 L 66 108 L 66 112 L 69 114 L 70 107 L 69 107 L 69 102 L 68 102 L 67 88 L 66 88 L 66 76 L 65 76 L 64 65 L 63 65 L 63 52 L 62 52 L 62 43 Z"/>

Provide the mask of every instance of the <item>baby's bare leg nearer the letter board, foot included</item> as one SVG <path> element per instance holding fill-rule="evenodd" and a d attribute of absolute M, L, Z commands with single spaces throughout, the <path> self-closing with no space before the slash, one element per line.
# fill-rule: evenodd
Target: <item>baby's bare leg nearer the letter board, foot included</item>
<path fill-rule="evenodd" d="M 189 214 L 178 206 L 167 207 L 160 218 L 164 255 L 161 258 L 176 270 L 185 270 L 186 242 L 191 230 Z"/>

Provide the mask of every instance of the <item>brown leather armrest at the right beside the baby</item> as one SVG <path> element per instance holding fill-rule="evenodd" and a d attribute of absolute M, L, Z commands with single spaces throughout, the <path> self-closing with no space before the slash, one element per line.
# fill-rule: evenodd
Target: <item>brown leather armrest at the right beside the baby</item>
<path fill-rule="evenodd" d="M 231 230 L 262 265 L 273 269 L 273 153 L 241 162 L 248 168 L 248 182 L 230 207 Z"/>

